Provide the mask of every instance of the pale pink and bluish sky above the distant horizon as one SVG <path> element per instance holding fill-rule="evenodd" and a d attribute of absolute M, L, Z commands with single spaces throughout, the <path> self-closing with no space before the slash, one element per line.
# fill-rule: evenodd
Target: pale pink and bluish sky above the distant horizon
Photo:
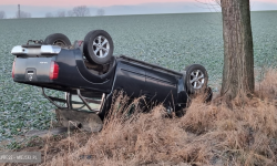
<path fill-rule="evenodd" d="M 99 8 L 105 14 L 147 14 L 147 13 L 185 13 L 216 12 L 213 0 L 0 0 L 0 11 L 8 18 L 16 15 L 17 4 L 30 12 L 33 18 L 44 17 L 47 12 L 68 11 L 75 6 L 88 6 L 90 14 L 95 15 Z M 277 0 L 250 0 L 252 10 L 277 10 Z"/>

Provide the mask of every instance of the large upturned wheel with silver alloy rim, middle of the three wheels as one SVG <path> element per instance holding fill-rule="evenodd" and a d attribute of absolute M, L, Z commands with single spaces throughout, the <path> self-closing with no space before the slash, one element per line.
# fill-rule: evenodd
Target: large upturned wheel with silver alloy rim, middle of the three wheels
<path fill-rule="evenodd" d="M 83 53 L 91 63 L 107 63 L 113 55 L 113 40 L 111 35 L 103 30 L 89 32 L 84 38 Z"/>

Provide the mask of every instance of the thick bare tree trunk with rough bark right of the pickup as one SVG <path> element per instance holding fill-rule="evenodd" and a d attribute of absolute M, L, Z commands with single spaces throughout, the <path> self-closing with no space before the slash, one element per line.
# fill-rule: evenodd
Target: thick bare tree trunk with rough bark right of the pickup
<path fill-rule="evenodd" d="M 220 95 L 227 100 L 254 93 L 254 53 L 249 0 L 220 0 L 224 71 Z"/>

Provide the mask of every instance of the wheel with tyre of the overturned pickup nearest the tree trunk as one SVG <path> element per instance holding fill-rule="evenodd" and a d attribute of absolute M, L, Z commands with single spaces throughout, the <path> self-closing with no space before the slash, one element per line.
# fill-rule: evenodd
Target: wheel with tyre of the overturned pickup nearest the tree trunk
<path fill-rule="evenodd" d="M 207 87 L 208 75 L 204 66 L 192 64 L 185 69 L 186 87 L 189 94 L 204 92 Z"/>

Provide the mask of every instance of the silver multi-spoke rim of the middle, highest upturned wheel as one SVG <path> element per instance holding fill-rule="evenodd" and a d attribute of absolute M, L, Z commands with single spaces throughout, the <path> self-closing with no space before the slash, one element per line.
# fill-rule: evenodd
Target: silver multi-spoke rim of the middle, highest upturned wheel
<path fill-rule="evenodd" d="M 99 35 L 93 40 L 92 50 L 94 54 L 101 59 L 105 58 L 110 52 L 110 43 L 103 35 Z"/>

